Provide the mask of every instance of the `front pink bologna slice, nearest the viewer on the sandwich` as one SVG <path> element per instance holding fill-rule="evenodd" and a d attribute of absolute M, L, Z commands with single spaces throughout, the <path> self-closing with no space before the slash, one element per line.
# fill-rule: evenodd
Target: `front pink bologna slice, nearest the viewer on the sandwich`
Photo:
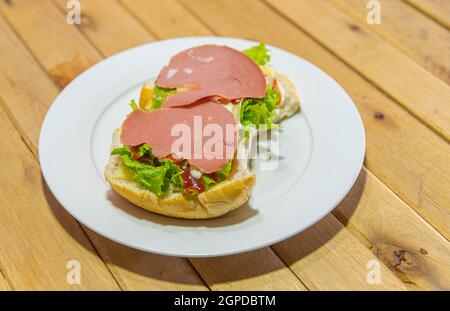
<path fill-rule="evenodd" d="M 223 105 L 209 100 L 179 108 L 136 109 L 122 124 L 120 139 L 127 146 L 148 143 L 156 157 L 187 159 L 209 174 L 234 158 L 236 120 Z"/>

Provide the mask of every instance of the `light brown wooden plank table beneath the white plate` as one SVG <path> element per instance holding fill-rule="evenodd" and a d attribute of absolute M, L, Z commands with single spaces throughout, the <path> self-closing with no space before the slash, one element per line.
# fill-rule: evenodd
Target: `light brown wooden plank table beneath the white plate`
<path fill-rule="evenodd" d="M 66 3 L 0 1 L 0 289 L 450 289 L 450 0 L 383 0 L 379 25 L 365 0 L 81 0 L 80 26 Z M 319 223 L 254 252 L 187 259 L 111 242 L 47 188 L 45 113 L 105 57 L 202 35 L 263 41 L 330 74 L 363 118 L 364 169 Z"/>

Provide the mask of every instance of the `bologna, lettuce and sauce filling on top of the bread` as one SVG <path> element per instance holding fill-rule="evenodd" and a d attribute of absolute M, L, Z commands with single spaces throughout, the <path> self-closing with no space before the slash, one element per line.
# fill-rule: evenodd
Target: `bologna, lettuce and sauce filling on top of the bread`
<path fill-rule="evenodd" d="M 229 179 L 238 129 L 273 125 L 282 94 L 265 67 L 269 60 L 264 44 L 243 52 L 206 45 L 175 55 L 156 84 L 144 87 L 139 106 L 132 101 L 122 124 L 123 146 L 112 154 L 122 158 L 125 175 L 158 196 L 198 194 Z M 180 152 L 173 152 L 180 138 L 174 125 L 190 129 L 191 143 Z M 222 136 L 212 135 L 214 126 Z"/>

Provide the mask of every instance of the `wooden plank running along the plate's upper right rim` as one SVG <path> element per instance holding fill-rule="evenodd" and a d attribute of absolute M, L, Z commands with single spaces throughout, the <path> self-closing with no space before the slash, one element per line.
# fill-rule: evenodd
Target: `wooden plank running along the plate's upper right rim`
<path fill-rule="evenodd" d="M 448 234 L 446 189 L 450 179 L 442 168 L 450 165 L 450 149 L 445 141 L 262 3 L 240 1 L 227 5 L 226 1 L 190 0 L 185 4 L 220 35 L 244 36 L 274 44 L 299 54 L 331 74 L 350 93 L 363 118 L 367 139 L 365 164 L 418 212 L 431 219 L 435 227 Z M 265 23 L 245 19 L 248 12 Z M 239 21 L 245 21 L 246 26 Z M 421 226 L 419 220 L 415 222 Z M 397 231 L 394 226 L 390 230 L 390 234 Z M 430 245 L 435 244 L 430 242 Z"/>

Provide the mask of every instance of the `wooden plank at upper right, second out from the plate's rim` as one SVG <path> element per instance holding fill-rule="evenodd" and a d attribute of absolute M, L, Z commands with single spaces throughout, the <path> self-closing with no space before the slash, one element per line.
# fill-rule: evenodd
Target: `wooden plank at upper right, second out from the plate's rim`
<path fill-rule="evenodd" d="M 450 140 L 450 87 L 443 81 L 328 1 L 267 2 Z"/>

